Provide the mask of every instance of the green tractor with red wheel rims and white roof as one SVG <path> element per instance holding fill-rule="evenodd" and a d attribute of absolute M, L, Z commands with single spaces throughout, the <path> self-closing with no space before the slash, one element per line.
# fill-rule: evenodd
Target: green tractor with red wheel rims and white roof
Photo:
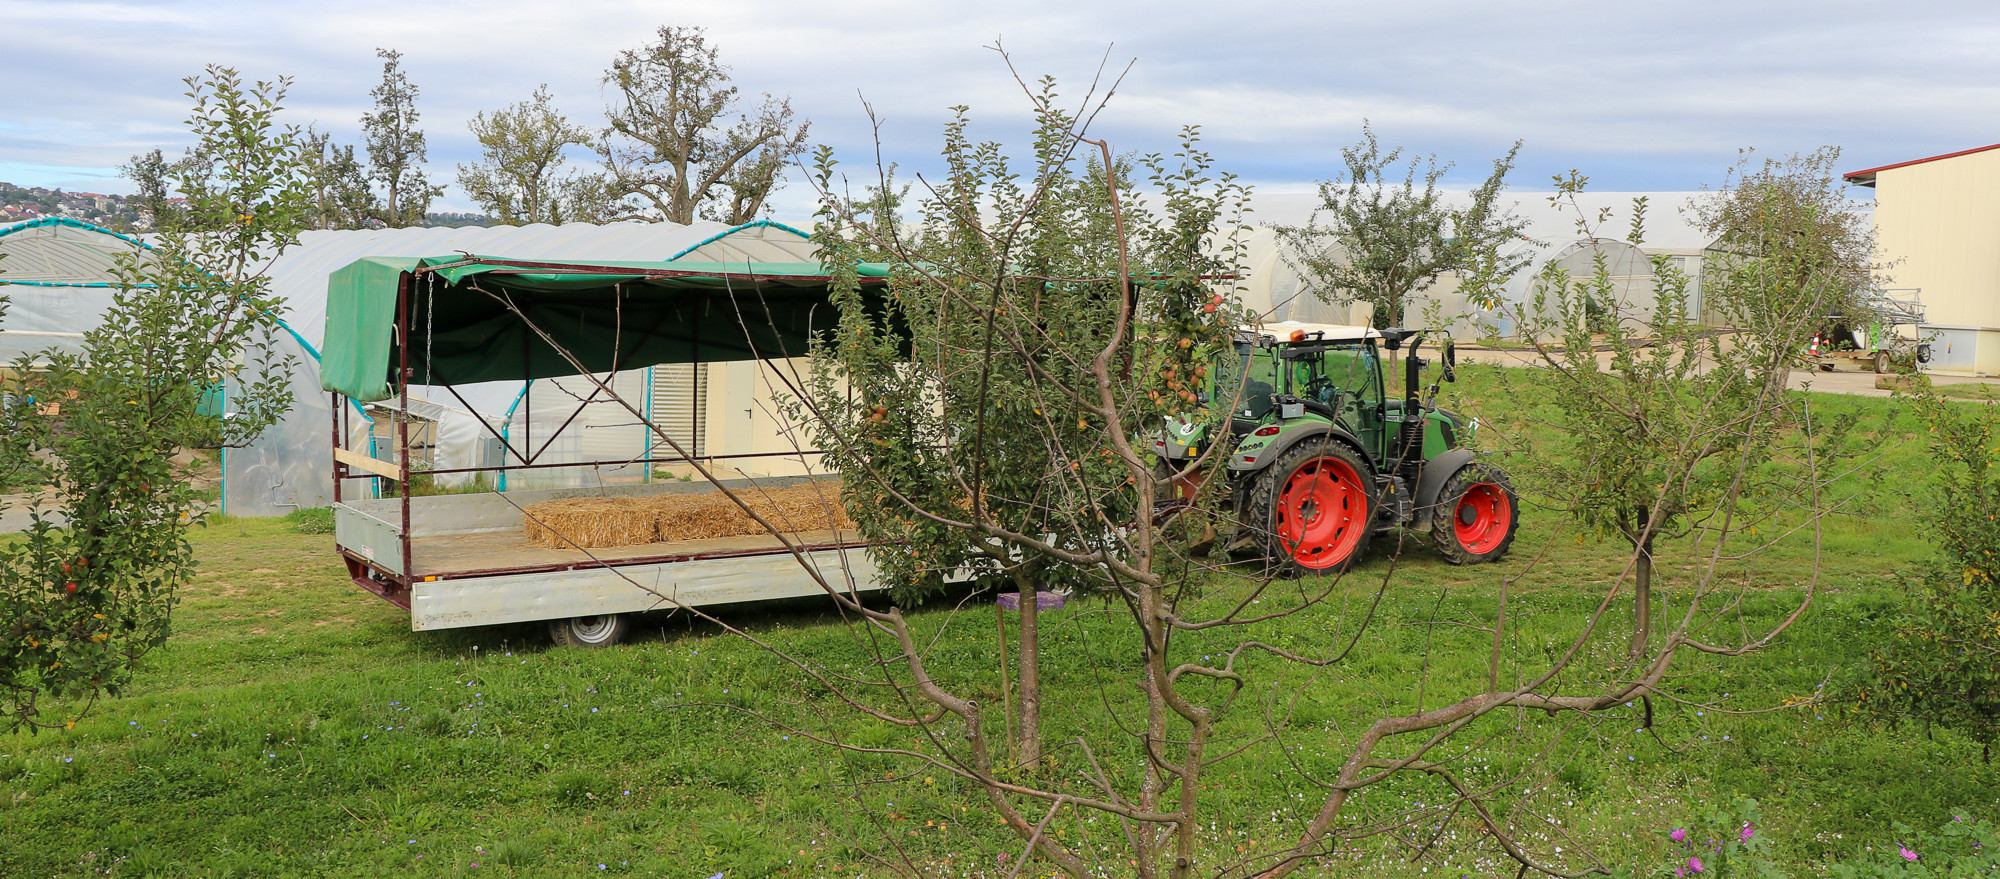
<path fill-rule="evenodd" d="M 1464 447 L 1478 422 L 1436 408 L 1438 384 L 1422 394 L 1428 364 L 1416 348 L 1426 330 L 1274 330 L 1286 338 L 1238 334 L 1234 356 L 1208 370 L 1208 412 L 1170 418 L 1154 441 L 1182 491 L 1210 473 L 1228 479 L 1232 553 L 1264 553 L 1294 573 L 1340 573 L 1372 535 L 1408 527 L 1454 565 L 1506 555 L 1520 501 L 1500 467 Z M 1404 350 L 1402 398 L 1384 394 L 1384 348 Z M 1450 342 L 1440 368 L 1438 382 L 1456 380 Z"/>

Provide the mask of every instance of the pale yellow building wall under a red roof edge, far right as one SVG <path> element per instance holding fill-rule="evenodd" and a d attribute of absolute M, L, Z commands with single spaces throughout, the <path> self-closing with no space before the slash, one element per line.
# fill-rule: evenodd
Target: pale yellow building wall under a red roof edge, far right
<path fill-rule="evenodd" d="M 2000 374 L 2000 150 L 1876 174 L 1876 244 L 1926 324 L 1978 328 L 1976 372 Z"/>

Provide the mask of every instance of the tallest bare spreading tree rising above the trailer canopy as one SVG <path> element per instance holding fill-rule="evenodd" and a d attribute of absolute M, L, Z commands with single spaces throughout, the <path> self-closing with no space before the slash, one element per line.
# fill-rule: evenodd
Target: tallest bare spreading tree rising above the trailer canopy
<path fill-rule="evenodd" d="M 662 26 L 656 42 L 620 52 L 604 84 L 614 96 L 598 152 L 610 194 L 628 200 L 632 216 L 756 220 L 784 164 L 806 150 L 810 124 L 794 124 L 790 98 L 766 94 L 728 122 L 736 86 L 702 28 Z"/>

